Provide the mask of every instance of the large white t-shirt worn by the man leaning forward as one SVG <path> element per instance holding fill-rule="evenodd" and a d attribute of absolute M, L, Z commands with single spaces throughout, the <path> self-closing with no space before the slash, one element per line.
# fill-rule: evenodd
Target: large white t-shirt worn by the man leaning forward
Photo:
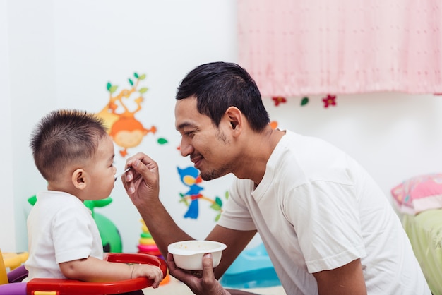
<path fill-rule="evenodd" d="M 218 224 L 258 230 L 287 294 L 318 294 L 312 273 L 357 258 L 369 294 L 431 294 L 386 196 L 333 145 L 286 131 L 253 188 L 234 181 Z"/>

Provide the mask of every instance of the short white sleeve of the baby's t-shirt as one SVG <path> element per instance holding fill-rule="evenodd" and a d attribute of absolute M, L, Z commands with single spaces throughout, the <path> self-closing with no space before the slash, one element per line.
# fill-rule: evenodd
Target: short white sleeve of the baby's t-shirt
<path fill-rule="evenodd" d="M 56 263 L 88 258 L 92 253 L 93 219 L 85 208 L 60 210 L 52 223 Z"/>

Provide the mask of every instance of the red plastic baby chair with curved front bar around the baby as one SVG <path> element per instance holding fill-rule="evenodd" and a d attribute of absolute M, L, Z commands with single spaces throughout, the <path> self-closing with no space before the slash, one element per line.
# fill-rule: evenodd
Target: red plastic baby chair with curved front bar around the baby
<path fill-rule="evenodd" d="M 6 268 L 0 259 L 0 282 L 4 282 Z M 167 275 L 165 260 L 154 255 L 142 253 L 105 253 L 104 260 L 114 263 L 144 263 L 156 265 L 162 270 L 163 277 Z M 3 272 L 4 270 L 4 272 Z M 0 295 L 105 295 L 120 294 L 136 291 L 152 286 L 153 280 L 147 277 L 136 277 L 116 282 L 81 282 L 75 279 L 31 279 L 21 282 L 27 275 L 24 265 L 8 272 L 6 284 L 0 284 Z M 18 276 L 14 277 L 14 276 Z"/>

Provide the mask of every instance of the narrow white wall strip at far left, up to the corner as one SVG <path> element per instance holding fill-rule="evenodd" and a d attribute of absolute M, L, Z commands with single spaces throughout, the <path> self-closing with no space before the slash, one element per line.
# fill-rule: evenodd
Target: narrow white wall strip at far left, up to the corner
<path fill-rule="evenodd" d="M 6 97 L 11 110 L 11 137 L 5 143 L 12 144 L 9 153 L 2 154 L 2 161 L 11 165 L 11 180 L 6 195 L 13 207 L 1 208 L 11 215 L 16 229 L 16 251 L 27 249 L 25 219 L 28 214 L 27 198 L 44 183 L 37 175 L 30 155 L 29 136 L 40 117 L 56 106 L 54 73 L 54 33 L 52 1 L 6 1 L 7 33 L 1 44 L 6 44 L 8 78 Z M 3 18 L 2 18 L 3 19 Z M 13 223 L 11 222 L 11 223 Z M 13 225 L 13 224 L 12 224 Z M 9 247 L 1 248 L 6 251 Z M 14 250 L 14 249 L 12 249 Z"/>

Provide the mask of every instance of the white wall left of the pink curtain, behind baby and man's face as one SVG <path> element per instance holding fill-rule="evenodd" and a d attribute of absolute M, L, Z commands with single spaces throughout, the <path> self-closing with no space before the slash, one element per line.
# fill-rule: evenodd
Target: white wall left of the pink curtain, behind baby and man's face
<path fill-rule="evenodd" d="M 215 215 L 202 203 L 197 220 L 181 220 L 186 207 L 179 203 L 179 192 L 186 187 L 179 182 L 177 166 L 187 167 L 190 161 L 177 151 L 180 138 L 174 129 L 174 95 L 179 80 L 194 66 L 214 60 L 236 61 L 235 2 L 2 0 L 1 4 L 5 9 L 0 16 L 5 18 L 1 18 L 0 43 L 6 44 L 2 47 L 6 52 L 1 52 L 0 60 L 10 66 L 2 67 L 0 73 L 8 78 L 2 79 L 3 89 L 11 89 L 12 121 L 7 124 L 8 116 L 2 118 L 2 123 L 6 120 L 2 126 L 11 134 L 4 133 L 6 145 L 2 148 L 12 145 L 1 159 L 13 173 L 1 181 L 4 192 L 9 193 L 1 199 L 0 216 L 1 221 L 15 220 L 16 227 L 14 231 L 2 222 L 0 248 L 27 249 L 27 199 L 46 186 L 28 148 L 33 126 L 56 108 L 99 112 L 107 104 L 107 82 L 123 88 L 134 71 L 148 76 L 143 83 L 149 90 L 138 119 L 146 127 L 157 126 L 158 131 L 129 153 L 143 150 L 160 163 L 162 198 L 167 199 L 172 215 L 202 238 L 213 226 Z M 158 145 L 159 137 L 167 138 L 169 144 Z M 124 161 L 116 157 L 119 170 Z M 212 198 L 227 190 L 226 183 L 214 183 L 205 188 Z M 121 183 L 117 182 L 112 198 L 111 205 L 97 212 L 117 225 L 124 251 L 136 251 L 141 234 L 138 212 Z"/>

